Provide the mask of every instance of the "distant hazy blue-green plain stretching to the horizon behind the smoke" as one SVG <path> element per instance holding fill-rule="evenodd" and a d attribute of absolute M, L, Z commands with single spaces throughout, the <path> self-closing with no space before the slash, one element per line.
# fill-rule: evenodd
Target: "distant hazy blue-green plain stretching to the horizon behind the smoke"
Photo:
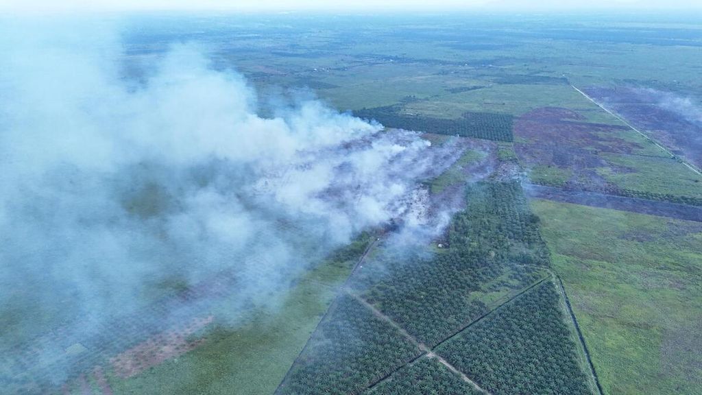
<path fill-rule="evenodd" d="M 578 86 L 698 92 L 698 20 L 685 18 L 622 23 L 586 15 L 358 15 L 331 23 L 321 15 L 269 15 L 261 23 L 235 15 L 174 17 L 168 32 L 134 29 L 132 56 L 145 60 L 170 41 L 204 37 L 218 48 L 218 67 L 234 67 L 257 86 L 309 86 L 341 110 L 416 96 L 421 101 L 408 110 L 428 117 L 456 119 L 466 111 L 519 116 L 559 106 L 604 122 L 564 76 Z M 480 89 L 453 90 L 466 87 Z"/>

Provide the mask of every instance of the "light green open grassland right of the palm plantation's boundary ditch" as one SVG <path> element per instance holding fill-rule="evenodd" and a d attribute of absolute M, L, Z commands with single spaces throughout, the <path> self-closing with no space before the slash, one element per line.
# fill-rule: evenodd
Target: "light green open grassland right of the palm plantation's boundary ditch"
<path fill-rule="evenodd" d="M 607 394 L 701 394 L 702 224 L 534 200 Z"/>

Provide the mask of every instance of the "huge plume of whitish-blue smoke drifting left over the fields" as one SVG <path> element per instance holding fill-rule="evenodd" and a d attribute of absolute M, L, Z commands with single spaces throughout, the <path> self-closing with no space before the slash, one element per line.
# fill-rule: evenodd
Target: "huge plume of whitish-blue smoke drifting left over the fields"
<path fill-rule="evenodd" d="M 418 181 L 460 155 L 315 100 L 263 117 L 245 79 L 213 70 L 197 44 L 133 84 L 113 27 L 3 30 L 6 388 L 60 384 L 218 298 L 232 304 L 226 325 L 274 309 L 333 248 L 416 216 Z"/>

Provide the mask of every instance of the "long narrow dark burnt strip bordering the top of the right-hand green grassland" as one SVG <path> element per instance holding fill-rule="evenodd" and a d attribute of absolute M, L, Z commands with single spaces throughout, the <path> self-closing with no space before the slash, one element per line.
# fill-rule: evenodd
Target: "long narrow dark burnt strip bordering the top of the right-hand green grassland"
<path fill-rule="evenodd" d="M 702 222 L 702 207 L 681 205 L 680 203 L 529 184 L 524 185 L 524 192 L 529 197 L 552 200 L 554 202 L 574 203 L 576 205 Z"/>

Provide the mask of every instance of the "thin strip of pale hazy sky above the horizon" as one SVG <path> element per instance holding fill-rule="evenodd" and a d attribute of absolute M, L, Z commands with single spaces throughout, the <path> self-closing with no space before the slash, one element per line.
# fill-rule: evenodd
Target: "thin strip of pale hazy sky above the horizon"
<path fill-rule="evenodd" d="M 506 9 L 544 11 L 632 8 L 640 11 L 702 7 L 702 0 L 0 0 L 0 11 L 411 11 Z"/>

